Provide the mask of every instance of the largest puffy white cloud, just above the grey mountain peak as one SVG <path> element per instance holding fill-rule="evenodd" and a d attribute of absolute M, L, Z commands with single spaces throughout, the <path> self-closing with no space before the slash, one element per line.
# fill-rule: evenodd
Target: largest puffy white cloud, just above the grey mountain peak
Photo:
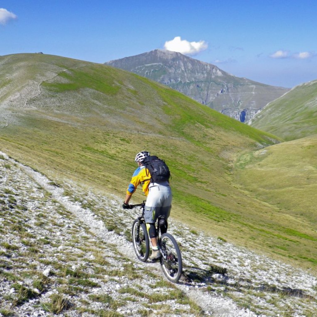
<path fill-rule="evenodd" d="M 205 49 L 207 49 L 208 45 L 205 41 L 199 42 L 188 42 L 186 40 L 182 40 L 180 36 L 174 37 L 171 41 L 166 41 L 164 44 L 164 48 L 173 51 L 179 52 L 182 54 L 194 55 Z"/>

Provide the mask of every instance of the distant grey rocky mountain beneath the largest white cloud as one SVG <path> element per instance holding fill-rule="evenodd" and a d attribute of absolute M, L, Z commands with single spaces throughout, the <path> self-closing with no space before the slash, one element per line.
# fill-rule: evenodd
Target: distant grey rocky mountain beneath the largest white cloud
<path fill-rule="evenodd" d="M 236 77 L 215 65 L 161 49 L 105 64 L 158 81 L 241 122 L 289 90 Z"/>

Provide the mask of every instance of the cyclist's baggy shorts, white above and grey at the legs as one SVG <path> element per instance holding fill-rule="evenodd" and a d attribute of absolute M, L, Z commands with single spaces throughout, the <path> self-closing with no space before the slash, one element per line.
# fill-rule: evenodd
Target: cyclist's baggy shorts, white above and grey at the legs
<path fill-rule="evenodd" d="M 149 187 L 146 198 L 144 217 L 146 223 L 155 223 L 159 216 L 170 216 L 172 207 L 172 192 L 170 186 L 154 185 Z"/>

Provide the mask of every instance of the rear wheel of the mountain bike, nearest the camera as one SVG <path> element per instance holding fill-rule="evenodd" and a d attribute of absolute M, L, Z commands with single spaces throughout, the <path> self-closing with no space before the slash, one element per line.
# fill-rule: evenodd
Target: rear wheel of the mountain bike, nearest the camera
<path fill-rule="evenodd" d="M 170 233 L 161 236 L 160 249 L 163 273 L 169 281 L 177 283 L 183 272 L 183 262 L 178 244 Z"/>

